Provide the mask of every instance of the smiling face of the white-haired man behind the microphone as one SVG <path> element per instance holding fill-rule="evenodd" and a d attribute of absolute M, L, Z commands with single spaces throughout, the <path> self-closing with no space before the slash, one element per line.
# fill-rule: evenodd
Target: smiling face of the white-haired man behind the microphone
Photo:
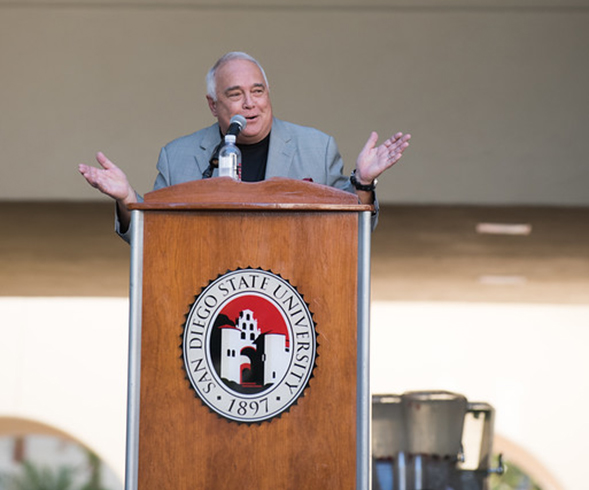
<path fill-rule="evenodd" d="M 239 143 L 257 143 L 272 128 L 272 103 L 264 76 L 255 63 L 248 60 L 231 60 L 222 65 L 216 74 L 217 100 L 207 96 L 213 116 L 219 121 L 223 134 L 235 114 L 247 120 L 239 134 Z"/>

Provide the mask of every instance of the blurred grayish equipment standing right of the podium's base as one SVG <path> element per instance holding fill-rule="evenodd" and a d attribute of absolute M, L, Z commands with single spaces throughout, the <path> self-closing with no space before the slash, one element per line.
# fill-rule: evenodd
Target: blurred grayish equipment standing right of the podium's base
<path fill-rule="evenodd" d="M 488 490 L 495 410 L 447 391 L 372 397 L 372 490 Z"/>

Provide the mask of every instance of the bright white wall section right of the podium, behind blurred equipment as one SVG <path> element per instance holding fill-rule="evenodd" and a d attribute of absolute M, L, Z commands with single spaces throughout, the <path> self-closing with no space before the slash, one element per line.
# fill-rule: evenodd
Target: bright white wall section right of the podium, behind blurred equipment
<path fill-rule="evenodd" d="M 487 402 L 499 438 L 535 460 L 532 476 L 550 476 L 541 488 L 587 486 L 589 306 L 376 302 L 372 329 L 374 393 Z"/>

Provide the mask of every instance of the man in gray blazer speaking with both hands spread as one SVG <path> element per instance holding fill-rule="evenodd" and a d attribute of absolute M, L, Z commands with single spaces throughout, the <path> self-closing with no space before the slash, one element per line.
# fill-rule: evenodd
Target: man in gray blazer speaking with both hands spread
<path fill-rule="evenodd" d="M 372 132 L 358 155 L 356 169 L 344 177 L 342 158 L 331 136 L 274 118 L 266 74 L 254 58 L 241 52 L 227 53 L 209 70 L 207 102 L 217 123 L 162 148 L 154 189 L 203 178 L 231 118 L 241 114 L 247 121 L 237 138 L 243 154 L 242 173 L 248 175 L 244 180 L 310 179 L 355 192 L 361 203 L 377 204 L 377 177 L 401 158 L 411 137 L 397 133 L 376 146 L 378 135 Z M 127 206 L 141 197 L 103 153 L 96 159 L 101 168 L 81 164 L 79 171 L 90 185 L 116 200 L 117 232 L 128 238 Z"/>

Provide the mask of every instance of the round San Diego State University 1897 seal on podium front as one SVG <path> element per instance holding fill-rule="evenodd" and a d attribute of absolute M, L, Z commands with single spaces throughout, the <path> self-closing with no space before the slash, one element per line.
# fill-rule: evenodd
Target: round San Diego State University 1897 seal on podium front
<path fill-rule="evenodd" d="M 317 354 L 313 314 L 281 276 L 229 271 L 196 297 L 182 352 L 206 406 L 236 422 L 264 422 L 288 411 L 308 386 Z"/>

